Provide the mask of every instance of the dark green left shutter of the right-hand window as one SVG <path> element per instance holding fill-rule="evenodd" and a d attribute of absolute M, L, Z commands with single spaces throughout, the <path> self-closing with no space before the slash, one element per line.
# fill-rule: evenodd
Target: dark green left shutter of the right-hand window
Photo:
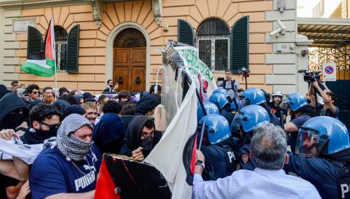
<path fill-rule="evenodd" d="M 195 46 L 195 33 L 193 27 L 185 20 L 177 21 L 177 41 Z"/>

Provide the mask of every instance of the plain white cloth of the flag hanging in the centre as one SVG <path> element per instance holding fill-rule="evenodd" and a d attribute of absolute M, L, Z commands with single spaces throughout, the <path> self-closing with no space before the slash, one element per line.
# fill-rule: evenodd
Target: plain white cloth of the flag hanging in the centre
<path fill-rule="evenodd" d="M 186 183 L 187 174 L 183 166 L 183 149 L 196 129 L 197 97 L 195 84 L 192 83 L 162 139 L 144 160 L 167 179 L 172 198 L 191 198 L 191 186 Z"/>

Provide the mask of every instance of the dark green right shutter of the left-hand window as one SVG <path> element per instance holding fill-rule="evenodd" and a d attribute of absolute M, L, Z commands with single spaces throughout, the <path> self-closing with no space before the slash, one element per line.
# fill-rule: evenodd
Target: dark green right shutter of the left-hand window
<path fill-rule="evenodd" d="M 68 73 L 78 73 L 78 55 L 79 55 L 79 29 L 76 25 L 68 34 L 66 49 L 66 71 Z"/>

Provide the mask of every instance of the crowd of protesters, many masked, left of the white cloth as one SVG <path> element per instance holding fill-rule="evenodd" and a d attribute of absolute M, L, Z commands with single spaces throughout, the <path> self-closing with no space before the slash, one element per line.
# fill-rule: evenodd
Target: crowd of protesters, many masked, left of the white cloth
<path fill-rule="evenodd" d="M 93 198 L 102 153 L 143 160 L 155 144 L 150 138 L 158 135 L 153 113 L 160 95 L 153 95 L 154 85 L 153 94 L 110 89 L 99 97 L 64 87 L 56 93 L 36 84 L 11 85 L 0 86 L 0 139 L 43 144 L 57 138 L 30 167 L 15 158 L 1 160 L 1 198 L 26 198 L 29 192 L 32 198 Z"/>

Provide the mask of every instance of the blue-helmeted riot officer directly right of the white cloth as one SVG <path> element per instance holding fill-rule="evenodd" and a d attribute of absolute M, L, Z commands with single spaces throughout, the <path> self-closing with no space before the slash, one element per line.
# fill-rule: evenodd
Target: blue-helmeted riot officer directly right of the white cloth
<path fill-rule="evenodd" d="M 198 123 L 197 133 L 202 132 L 204 123 L 204 136 L 202 148 L 205 157 L 205 180 L 216 180 L 232 174 L 236 167 L 235 151 L 237 147 L 232 140 L 230 124 L 221 115 L 209 114 Z"/>

